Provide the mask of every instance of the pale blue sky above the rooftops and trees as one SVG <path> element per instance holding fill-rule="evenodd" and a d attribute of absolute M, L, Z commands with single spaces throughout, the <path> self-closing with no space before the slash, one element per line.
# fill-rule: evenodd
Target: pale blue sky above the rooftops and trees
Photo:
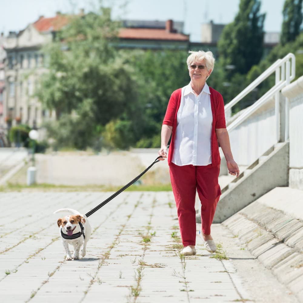
<path fill-rule="evenodd" d="M 261 0 L 261 13 L 266 13 L 265 32 L 280 32 L 285 0 Z M 68 13 L 80 8 L 88 12 L 98 0 L 0 0 L 0 32 L 20 31 L 40 15 L 52 17 L 57 11 Z M 201 24 L 232 22 L 240 0 L 104 0 L 113 6 L 112 18 L 134 20 L 184 21 L 184 33 L 199 42 Z M 126 5 L 125 2 L 127 3 Z"/>

